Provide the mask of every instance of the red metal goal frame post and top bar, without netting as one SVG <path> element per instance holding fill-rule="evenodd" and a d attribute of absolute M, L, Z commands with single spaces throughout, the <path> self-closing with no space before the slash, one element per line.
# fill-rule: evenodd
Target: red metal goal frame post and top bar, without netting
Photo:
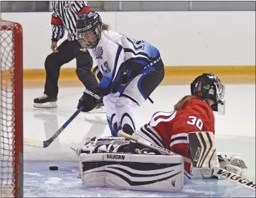
<path fill-rule="evenodd" d="M 11 71 L 13 74 L 13 104 L 14 113 L 14 139 L 12 160 L 13 196 L 23 197 L 23 36 L 22 26 L 13 21 L 1 20 L 1 31 L 12 31 L 13 59 Z M 1 38 L 2 39 L 2 38 Z M 2 70 L 1 70 L 2 72 Z M 1 82 L 2 84 L 2 82 Z M 2 85 L 1 85 L 2 89 Z M 1 147 L 1 145 L 0 145 Z"/>

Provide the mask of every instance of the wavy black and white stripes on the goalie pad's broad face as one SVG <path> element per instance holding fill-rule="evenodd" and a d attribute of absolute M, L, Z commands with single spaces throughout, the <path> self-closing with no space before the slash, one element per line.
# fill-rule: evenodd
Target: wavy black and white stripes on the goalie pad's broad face
<path fill-rule="evenodd" d="M 181 174 L 181 163 L 82 162 L 83 174 L 105 172 L 120 177 L 130 186 L 156 184 Z"/>

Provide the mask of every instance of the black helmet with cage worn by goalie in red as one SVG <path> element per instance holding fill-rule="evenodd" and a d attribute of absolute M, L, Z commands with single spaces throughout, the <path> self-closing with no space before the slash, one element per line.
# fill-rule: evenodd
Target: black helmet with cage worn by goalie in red
<path fill-rule="evenodd" d="M 191 95 L 211 99 L 214 102 L 212 110 L 222 115 L 225 112 L 224 94 L 225 86 L 214 74 L 202 74 L 191 83 Z"/>

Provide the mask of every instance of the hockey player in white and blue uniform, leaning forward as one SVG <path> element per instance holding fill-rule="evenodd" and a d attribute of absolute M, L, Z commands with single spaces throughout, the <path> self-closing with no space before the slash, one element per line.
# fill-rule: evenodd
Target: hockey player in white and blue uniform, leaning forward
<path fill-rule="evenodd" d="M 80 15 L 77 37 L 82 50 L 88 50 L 97 61 L 94 71 L 100 78 L 97 89 L 85 89 L 77 108 L 83 106 L 83 112 L 90 112 L 103 95 L 113 137 L 118 137 L 120 129 L 133 134 L 136 130 L 134 109 L 149 99 L 164 77 L 158 49 L 147 41 L 109 30 L 95 11 Z"/>

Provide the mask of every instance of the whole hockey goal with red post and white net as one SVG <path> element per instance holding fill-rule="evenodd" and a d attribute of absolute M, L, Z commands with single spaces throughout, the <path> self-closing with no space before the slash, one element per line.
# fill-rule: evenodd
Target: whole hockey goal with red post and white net
<path fill-rule="evenodd" d="M 23 197 L 22 26 L 1 20 L 0 197 Z"/>

